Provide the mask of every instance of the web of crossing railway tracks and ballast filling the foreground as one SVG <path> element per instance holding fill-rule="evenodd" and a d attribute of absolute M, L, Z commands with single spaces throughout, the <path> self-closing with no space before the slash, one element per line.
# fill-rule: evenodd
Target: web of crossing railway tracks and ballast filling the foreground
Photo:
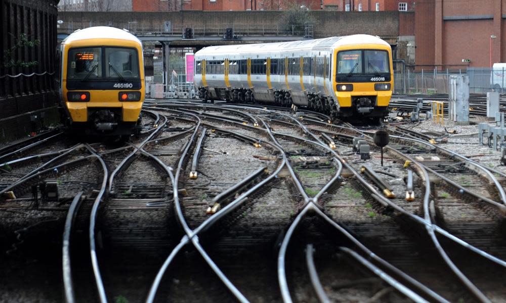
<path fill-rule="evenodd" d="M 27 206 L 30 180 L 61 179 L 67 301 L 504 297 L 506 178 L 400 128 L 382 167 L 374 128 L 301 115 L 147 101 L 132 144 L 40 143 L 0 175 L 2 193 Z"/>

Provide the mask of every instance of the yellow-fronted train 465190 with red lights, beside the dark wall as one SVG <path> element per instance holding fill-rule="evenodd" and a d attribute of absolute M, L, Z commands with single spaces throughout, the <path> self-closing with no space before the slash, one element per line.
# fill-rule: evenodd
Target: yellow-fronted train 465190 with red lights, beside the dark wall
<path fill-rule="evenodd" d="M 113 27 L 90 27 L 63 40 L 60 54 L 66 125 L 99 135 L 140 130 L 145 82 L 139 39 Z"/>

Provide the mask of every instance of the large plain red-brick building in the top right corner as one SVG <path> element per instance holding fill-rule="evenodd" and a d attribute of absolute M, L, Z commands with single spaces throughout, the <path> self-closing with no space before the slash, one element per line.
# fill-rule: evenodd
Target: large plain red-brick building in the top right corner
<path fill-rule="evenodd" d="M 462 2 L 416 1 L 417 69 L 466 69 L 505 62 L 506 0 Z M 462 62 L 468 59 L 469 63 Z"/>

